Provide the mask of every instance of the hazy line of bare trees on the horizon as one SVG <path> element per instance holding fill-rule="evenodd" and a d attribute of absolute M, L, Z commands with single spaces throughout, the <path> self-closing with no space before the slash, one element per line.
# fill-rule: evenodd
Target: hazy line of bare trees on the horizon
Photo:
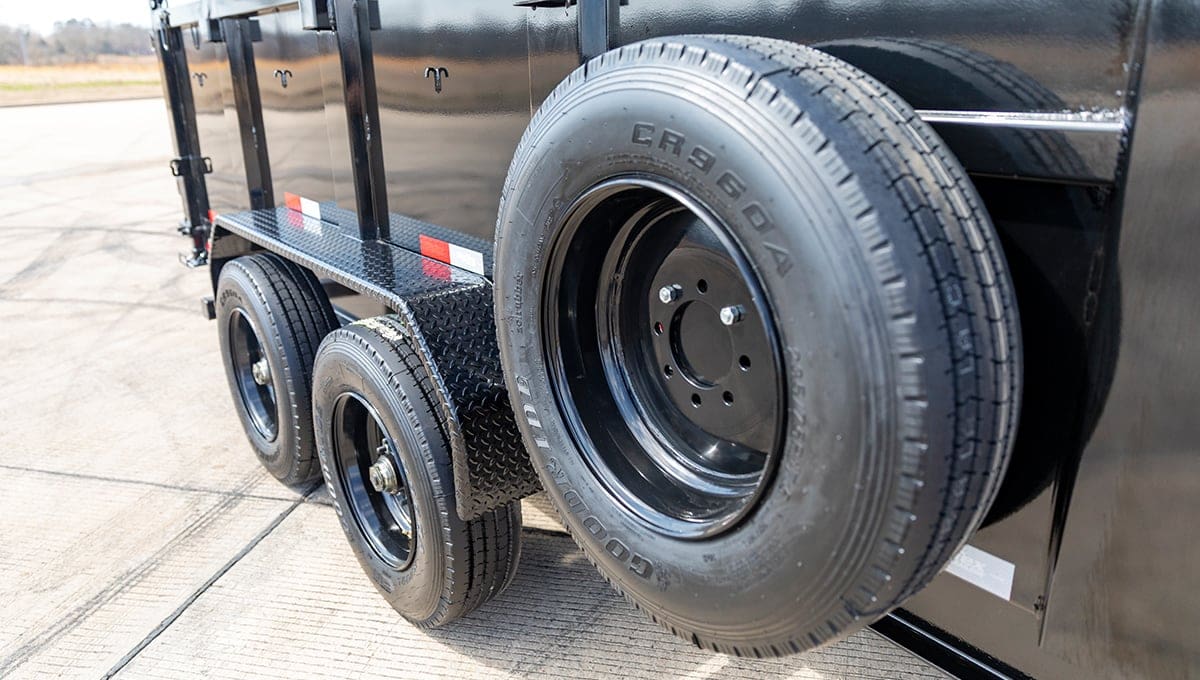
<path fill-rule="evenodd" d="M 86 64 L 101 55 L 154 54 L 150 29 L 133 24 L 58 22 L 49 35 L 0 24 L 0 64 Z"/>

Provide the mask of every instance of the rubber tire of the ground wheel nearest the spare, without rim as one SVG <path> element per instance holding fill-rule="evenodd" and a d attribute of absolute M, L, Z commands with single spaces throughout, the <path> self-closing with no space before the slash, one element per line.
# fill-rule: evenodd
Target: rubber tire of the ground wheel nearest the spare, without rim
<path fill-rule="evenodd" d="M 511 583 L 521 558 L 521 504 L 476 519 L 458 517 L 443 410 L 409 343 L 392 317 L 334 331 L 317 354 L 313 414 L 325 485 L 359 564 L 396 612 L 416 626 L 434 627 L 467 615 Z M 334 405 L 346 392 L 374 408 L 408 477 L 416 547 L 404 568 L 372 549 L 344 498 L 331 439 Z"/>

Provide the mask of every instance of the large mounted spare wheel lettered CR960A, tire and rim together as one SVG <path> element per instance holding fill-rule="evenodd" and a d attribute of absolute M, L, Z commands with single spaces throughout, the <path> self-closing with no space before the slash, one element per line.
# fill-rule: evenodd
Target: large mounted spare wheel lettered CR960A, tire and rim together
<path fill-rule="evenodd" d="M 1020 396 L 1003 254 L 936 134 L 853 67 L 734 36 L 592 60 L 526 132 L 496 253 L 550 499 L 677 634 L 845 637 L 983 518 Z"/>

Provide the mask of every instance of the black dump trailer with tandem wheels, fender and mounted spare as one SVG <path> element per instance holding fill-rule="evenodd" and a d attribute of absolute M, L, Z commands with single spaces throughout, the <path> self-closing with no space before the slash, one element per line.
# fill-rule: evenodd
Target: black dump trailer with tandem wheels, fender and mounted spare
<path fill-rule="evenodd" d="M 1200 10 L 154 2 L 250 444 L 420 626 L 520 499 L 718 652 L 1200 676 Z"/>

